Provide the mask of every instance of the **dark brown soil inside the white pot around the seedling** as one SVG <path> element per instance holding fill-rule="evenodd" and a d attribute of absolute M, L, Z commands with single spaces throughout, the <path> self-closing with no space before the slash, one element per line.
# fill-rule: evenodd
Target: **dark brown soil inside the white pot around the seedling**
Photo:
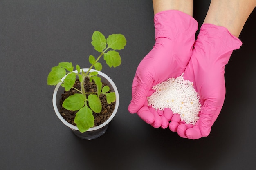
<path fill-rule="evenodd" d="M 106 86 L 106 84 L 102 83 L 102 87 Z M 78 79 L 76 79 L 76 83 L 74 84 L 74 88 L 81 89 L 80 82 Z M 97 86 L 94 84 L 94 82 L 89 82 L 89 79 L 85 79 L 85 91 L 86 92 L 97 92 Z M 111 92 L 111 90 L 109 91 Z M 70 89 L 70 91 L 64 91 L 64 94 L 62 94 L 62 98 L 60 100 L 61 109 L 59 112 L 61 113 L 61 116 L 70 124 L 76 126 L 74 123 L 74 119 L 76 116 L 77 111 L 70 111 L 62 107 L 63 101 L 69 97 L 70 95 L 73 95 L 74 93 L 80 93 L 79 91 L 74 90 L 73 88 Z M 108 118 L 112 115 L 113 110 L 115 108 L 115 102 L 108 104 L 106 95 L 100 95 L 99 96 L 101 100 L 102 110 L 100 113 L 93 112 L 94 116 L 94 127 L 99 126 L 100 124 L 103 124 Z"/>

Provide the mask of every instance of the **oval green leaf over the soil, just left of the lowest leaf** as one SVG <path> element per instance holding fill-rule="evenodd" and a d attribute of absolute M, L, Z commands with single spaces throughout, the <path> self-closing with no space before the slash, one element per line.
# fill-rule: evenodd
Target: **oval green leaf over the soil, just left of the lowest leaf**
<path fill-rule="evenodd" d="M 65 99 L 62 104 L 62 106 L 65 109 L 72 110 L 72 111 L 79 110 L 84 105 L 85 105 L 85 96 L 78 93 L 67 97 L 67 99 Z"/>

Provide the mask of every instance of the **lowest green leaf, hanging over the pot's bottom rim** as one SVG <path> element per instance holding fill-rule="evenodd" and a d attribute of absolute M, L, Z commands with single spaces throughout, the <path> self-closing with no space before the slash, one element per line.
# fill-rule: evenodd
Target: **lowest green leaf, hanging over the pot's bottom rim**
<path fill-rule="evenodd" d="M 92 110 L 85 105 L 76 113 L 74 122 L 81 133 L 86 132 L 89 128 L 94 126 Z"/>

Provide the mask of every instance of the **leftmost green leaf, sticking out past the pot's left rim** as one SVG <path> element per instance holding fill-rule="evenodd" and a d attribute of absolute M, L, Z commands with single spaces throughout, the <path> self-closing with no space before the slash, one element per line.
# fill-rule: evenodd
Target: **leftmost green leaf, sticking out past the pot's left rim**
<path fill-rule="evenodd" d="M 66 75 L 66 70 L 61 66 L 52 67 L 52 71 L 49 73 L 47 77 L 48 85 L 57 85 L 61 82 L 61 79 Z"/>

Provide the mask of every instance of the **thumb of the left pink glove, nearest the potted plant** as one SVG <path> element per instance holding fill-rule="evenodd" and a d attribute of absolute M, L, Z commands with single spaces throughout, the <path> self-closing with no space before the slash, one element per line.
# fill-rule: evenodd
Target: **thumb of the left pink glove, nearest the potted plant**
<path fill-rule="evenodd" d="M 142 83 L 135 76 L 132 83 L 132 100 L 128 106 L 128 111 L 130 113 L 137 113 L 138 110 L 143 106 L 151 85 L 152 82 Z"/>

